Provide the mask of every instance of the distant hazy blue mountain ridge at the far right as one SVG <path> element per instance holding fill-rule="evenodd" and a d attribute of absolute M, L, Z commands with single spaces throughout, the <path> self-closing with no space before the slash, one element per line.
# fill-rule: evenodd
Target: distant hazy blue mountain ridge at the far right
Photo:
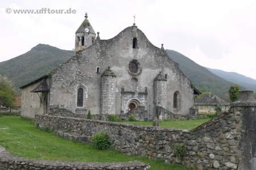
<path fill-rule="evenodd" d="M 224 78 L 225 80 L 228 80 L 230 82 L 240 85 L 241 88 L 256 91 L 255 79 L 249 78 L 245 75 L 238 74 L 235 72 L 226 72 L 226 71 L 217 70 L 217 69 L 210 69 L 208 67 L 206 68 L 210 70 L 212 73 L 220 76 L 221 78 Z"/>

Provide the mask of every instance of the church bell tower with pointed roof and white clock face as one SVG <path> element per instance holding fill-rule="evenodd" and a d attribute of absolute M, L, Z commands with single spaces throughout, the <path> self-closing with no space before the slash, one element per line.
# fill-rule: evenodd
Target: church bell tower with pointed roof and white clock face
<path fill-rule="evenodd" d="M 76 52 L 88 48 L 96 40 L 96 33 L 88 20 L 88 13 L 85 12 L 85 19 L 76 31 L 75 54 Z"/>

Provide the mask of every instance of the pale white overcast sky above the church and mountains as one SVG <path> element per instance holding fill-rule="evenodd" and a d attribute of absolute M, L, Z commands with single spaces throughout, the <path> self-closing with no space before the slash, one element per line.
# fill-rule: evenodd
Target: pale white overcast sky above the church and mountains
<path fill-rule="evenodd" d="M 5 0 L 0 12 L 0 62 L 38 44 L 72 50 L 75 32 L 88 12 L 102 40 L 133 25 L 135 16 L 135 24 L 155 46 L 164 44 L 204 67 L 256 79 L 256 1 Z"/>

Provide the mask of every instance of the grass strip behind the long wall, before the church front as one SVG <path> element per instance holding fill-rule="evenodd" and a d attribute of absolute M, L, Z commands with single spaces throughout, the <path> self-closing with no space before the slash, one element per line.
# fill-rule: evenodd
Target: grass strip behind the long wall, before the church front
<path fill-rule="evenodd" d="M 197 126 L 203 124 L 204 122 L 209 121 L 210 118 L 203 118 L 203 119 L 197 119 L 197 120 L 179 120 L 179 121 L 159 121 L 159 127 L 162 128 L 172 128 L 172 129 L 194 129 Z M 152 122 L 146 121 L 137 121 L 137 122 L 130 122 L 130 121 L 124 121 L 122 123 L 125 124 L 133 124 L 133 125 L 144 125 L 144 126 L 152 126 Z"/>

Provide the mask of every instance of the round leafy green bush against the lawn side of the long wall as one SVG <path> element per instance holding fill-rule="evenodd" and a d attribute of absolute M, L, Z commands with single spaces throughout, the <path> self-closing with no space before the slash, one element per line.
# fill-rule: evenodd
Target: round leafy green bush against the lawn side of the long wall
<path fill-rule="evenodd" d="M 90 139 L 92 140 L 92 145 L 98 150 L 106 150 L 110 147 L 110 139 L 107 133 L 97 133 Z"/>

